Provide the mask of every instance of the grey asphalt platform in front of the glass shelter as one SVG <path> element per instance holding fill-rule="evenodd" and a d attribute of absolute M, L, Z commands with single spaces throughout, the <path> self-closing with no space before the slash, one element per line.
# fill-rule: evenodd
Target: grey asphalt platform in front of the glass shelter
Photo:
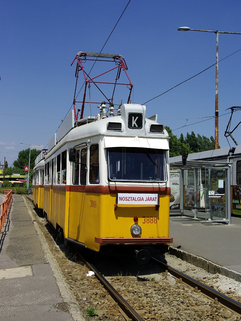
<path fill-rule="evenodd" d="M 241 217 L 227 225 L 171 216 L 169 235 L 171 247 L 241 273 Z"/>

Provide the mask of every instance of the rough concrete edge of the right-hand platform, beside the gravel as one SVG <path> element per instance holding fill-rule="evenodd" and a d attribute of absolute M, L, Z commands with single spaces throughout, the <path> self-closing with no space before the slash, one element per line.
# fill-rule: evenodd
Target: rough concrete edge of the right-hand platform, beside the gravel
<path fill-rule="evenodd" d="M 217 265 L 211 261 L 204 259 L 201 256 L 196 256 L 194 254 L 179 250 L 178 248 L 171 246 L 168 247 L 168 253 L 192 265 L 198 266 L 211 274 L 219 273 L 221 275 L 229 277 L 230 279 L 241 282 L 241 273 L 228 269 L 227 267 Z"/>

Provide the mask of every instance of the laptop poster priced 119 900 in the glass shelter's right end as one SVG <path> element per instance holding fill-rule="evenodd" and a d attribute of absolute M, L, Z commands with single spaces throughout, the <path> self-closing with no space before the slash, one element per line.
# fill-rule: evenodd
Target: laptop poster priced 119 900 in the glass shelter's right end
<path fill-rule="evenodd" d="M 212 216 L 226 218 L 225 171 L 222 169 L 212 170 L 211 175 L 211 191 L 214 192 L 211 197 Z"/>

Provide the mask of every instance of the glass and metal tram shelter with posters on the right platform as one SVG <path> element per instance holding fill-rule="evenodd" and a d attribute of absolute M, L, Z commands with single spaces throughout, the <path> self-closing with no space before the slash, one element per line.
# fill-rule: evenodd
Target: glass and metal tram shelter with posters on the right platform
<path fill-rule="evenodd" d="M 230 163 L 170 158 L 170 215 L 231 224 Z"/>

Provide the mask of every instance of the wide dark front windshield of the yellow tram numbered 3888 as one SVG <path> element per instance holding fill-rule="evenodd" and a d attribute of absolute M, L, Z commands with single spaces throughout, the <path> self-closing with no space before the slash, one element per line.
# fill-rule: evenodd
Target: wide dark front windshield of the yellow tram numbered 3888
<path fill-rule="evenodd" d="M 166 181 L 165 151 L 154 148 L 108 148 L 109 180 Z"/>

